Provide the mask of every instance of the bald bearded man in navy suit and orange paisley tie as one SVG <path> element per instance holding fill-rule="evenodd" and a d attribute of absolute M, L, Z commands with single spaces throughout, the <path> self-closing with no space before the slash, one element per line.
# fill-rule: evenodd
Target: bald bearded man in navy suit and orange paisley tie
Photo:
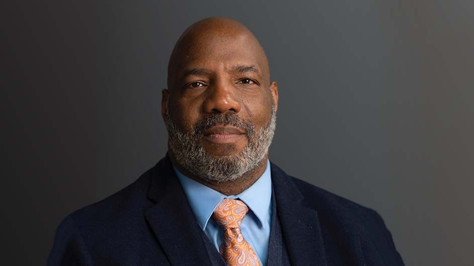
<path fill-rule="evenodd" d="M 168 153 L 59 225 L 48 265 L 403 265 L 373 210 L 268 160 L 278 91 L 256 38 L 209 18 L 168 64 Z"/>

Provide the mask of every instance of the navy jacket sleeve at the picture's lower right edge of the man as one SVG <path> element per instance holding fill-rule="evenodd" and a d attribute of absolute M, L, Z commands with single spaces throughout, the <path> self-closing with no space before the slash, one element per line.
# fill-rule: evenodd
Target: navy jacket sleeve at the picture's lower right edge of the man
<path fill-rule="evenodd" d="M 380 214 L 370 209 L 365 218 L 364 234 L 366 237 L 361 244 L 366 264 L 403 266 L 403 259 L 395 248 L 392 234 Z"/>

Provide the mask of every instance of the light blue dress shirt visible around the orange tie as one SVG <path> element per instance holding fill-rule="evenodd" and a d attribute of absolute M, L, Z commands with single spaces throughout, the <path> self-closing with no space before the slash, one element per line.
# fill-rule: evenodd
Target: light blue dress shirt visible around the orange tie
<path fill-rule="evenodd" d="M 247 204 L 249 211 L 245 215 L 240 229 L 242 235 L 257 253 L 262 265 L 268 257 L 271 221 L 271 175 L 270 161 L 267 160 L 265 172 L 249 188 L 238 195 L 226 196 L 181 174 L 174 166 L 179 182 L 193 209 L 196 220 L 214 246 L 219 250 L 224 232 L 211 218 L 214 208 L 224 198 L 240 199 Z"/>

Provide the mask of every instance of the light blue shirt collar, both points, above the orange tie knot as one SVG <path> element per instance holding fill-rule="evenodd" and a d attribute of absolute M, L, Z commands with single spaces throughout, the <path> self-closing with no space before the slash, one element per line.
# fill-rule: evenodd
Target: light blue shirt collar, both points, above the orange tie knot
<path fill-rule="evenodd" d="M 193 209 L 196 220 L 203 230 L 211 217 L 214 208 L 224 198 L 242 200 L 260 221 L 260 225 L 268 226 L 266 221 L 269 215 L 271 200 L 271 175 L 270 161 L 263 174 L 249 188 L 238 195 L 226 196 L 206 185 L 203 185 L 191 178 L 184 176 L 173 166 L 174 172 L 181 183 L 187 201 Z"/>

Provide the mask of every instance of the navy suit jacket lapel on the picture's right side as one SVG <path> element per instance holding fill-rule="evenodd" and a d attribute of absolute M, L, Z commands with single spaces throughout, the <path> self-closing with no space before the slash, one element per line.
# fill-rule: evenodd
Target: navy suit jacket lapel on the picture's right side
<path fill-rule="evenodd" d="M 327 265 L 317 211 L 306 204 L 290 176 L 273 163 L 270 168 L 281 232 L 292 265 Z"/>

